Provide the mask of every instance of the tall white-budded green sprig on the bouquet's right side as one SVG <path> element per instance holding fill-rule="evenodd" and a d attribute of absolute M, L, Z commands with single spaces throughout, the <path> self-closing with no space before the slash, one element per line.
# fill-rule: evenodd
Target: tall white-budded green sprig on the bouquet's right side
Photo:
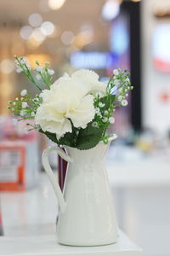
<path fill-rule="evenodd" d="M 127 69 L 121 70 L 117 68 L 113 70 L 107 87 L 106 95 L 101 97 L 99 95 L 95 96 L 94 108 L 95 117 L 93 126 L 99 127 L 103 130 L 101 139 L 104 143 L 108 143 L 111 135 L 107 135 L 106 131 L 109 125 L 115 123 L 114 112 L 117 107 L 127 106 L 127 96 L 128 91 L 133 89 L 131 86 L 129 73 Z M 116 138 L 116 134 L 114 135 Z"/>

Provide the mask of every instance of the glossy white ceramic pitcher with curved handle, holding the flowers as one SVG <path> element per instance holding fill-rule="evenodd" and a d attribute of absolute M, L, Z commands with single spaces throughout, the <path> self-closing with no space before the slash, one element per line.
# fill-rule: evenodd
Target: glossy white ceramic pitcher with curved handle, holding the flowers
<path fill-rule="evenodd" d="M 108 145 L 79 150 L 58 146 L 42 153 L 42 165 L 59 202 L 58 242 L 70 246 L 101 246 L 116 242 L 117 223 L 105 170 Z M 56 150 L 69 164 L 63 194 L 48 163 L 48 154 Z"/>

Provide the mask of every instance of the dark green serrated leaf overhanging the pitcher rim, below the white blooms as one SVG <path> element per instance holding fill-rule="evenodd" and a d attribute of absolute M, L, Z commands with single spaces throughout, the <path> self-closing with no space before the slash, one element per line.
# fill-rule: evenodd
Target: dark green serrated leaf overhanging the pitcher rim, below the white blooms
<path fill-rule="evenodd" d="M 100 141 L 102 129 L 93 127 L 92 122 L 85 129 L 79 131 L 77 137 L 77 148 L 81 150 L 94 148 Z"/>

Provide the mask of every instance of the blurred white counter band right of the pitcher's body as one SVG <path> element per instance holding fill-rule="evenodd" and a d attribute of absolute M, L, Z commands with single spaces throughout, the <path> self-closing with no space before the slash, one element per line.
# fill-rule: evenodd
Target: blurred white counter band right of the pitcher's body
<path fill-rule="evenodd" d="M 138 160 L 107 159 L 106 169 L 111 186 L 168 186 L 170 185 L 169 160 L 148 157 Z"/>

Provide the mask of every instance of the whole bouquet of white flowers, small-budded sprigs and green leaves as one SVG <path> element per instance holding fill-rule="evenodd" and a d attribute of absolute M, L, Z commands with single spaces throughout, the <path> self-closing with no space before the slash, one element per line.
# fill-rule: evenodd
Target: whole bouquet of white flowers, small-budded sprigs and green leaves
<path fill-rule="evenodd" d="M 8 102 L 8 108 L 20 120 L 28 120 L 28 130 L 40 131 L 59 145 L 78 149 L 94 148 L 99 141 L 108 143 L 109 125 L 115 122 L 117 107 L 127 106 L 127 93 L 133 89 L 127 70 L 115 69 L 107 83 L 99 81 L 94 71 L 81 69 L 69 76 L 65 73 L 52 83 L 54 70 L 45 62 L 31 71 L 25 57 L 14 56 L 16 72 L 25 75 L 37 87 L 32 98 L 27 90 L 20 99 Z M 46 89 L 43 89 L 44 86 Z M 32 125 L 29 120 L 35 119 Z"/>

